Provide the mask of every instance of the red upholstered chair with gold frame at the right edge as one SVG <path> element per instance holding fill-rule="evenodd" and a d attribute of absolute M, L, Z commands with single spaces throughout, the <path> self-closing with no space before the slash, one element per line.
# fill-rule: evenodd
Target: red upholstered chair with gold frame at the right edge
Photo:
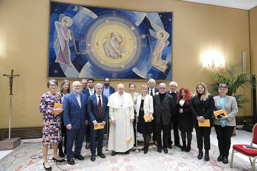
<path fill-rule="evenodd" d="M 253 126 L 253 137 L 252 137 L 252 143 L 251 146 L 253 144 L 257 145 L 257 124 L 255 124 Z M 256 149 L 251 149 L 251 148 L 244 148 L 243 146 L 246 146 L 246 144 L 237 144 L 237 145 L 233 145 L 233 150 L 232 150 L 232 155 L 231 155 L 231 163 L 230 163 L 230 167 L 232 168 L 233 165 L 233 157 L 234 157 L 234 152 L 235 153 L 241 153 L 247 157 L 249 157 L 251 165 L 253 166 L 252 170 L 255 170 L 255 160 L 257 159 L 257 150 Z M 251 160 L 251 158 L 253 158 L 253 161 Z"/>

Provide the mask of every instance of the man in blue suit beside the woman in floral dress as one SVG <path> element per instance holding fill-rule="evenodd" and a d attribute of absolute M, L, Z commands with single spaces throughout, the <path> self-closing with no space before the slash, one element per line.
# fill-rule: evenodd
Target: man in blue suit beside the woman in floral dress
<path fill-rule="evenodd" d="M 67 128 L 67 161 L 70 165 L 75 164 L 72 157 L 84 160 L 84 157 L 80 155 L 80 151 L 84 140 L 85 126 L 88 122 L 88 116 L 86 115 L 87 96 L 79 92 L 80 88 L 81 83 L 75 81 L 72 84 L 73 92 L 64 97 L 62 106 L 63 122 Z M 74 152 L 72 152 L 75 138 L 76 145 Z"/>

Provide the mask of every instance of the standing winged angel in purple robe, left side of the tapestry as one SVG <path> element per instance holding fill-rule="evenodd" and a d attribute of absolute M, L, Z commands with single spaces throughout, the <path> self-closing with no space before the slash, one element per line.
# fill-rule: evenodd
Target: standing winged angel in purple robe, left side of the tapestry
<path fill-rule="evenodd" d="M 63 65 L 72 67 L 71 61 L 70 61 L 70 48 L 69 48 L 69 39 L 72 40 L 72 37 L 70 34 L 71 31 L 68 28 L 69 26 L 72 25 L 72 19 L 70 17 L 66 17 L 65 15 L 61 14 L 59 22 L 56 21 L 54 23 L 55 23 L 58 37 L 56 39 L 56 42 L 53 48 L 60 46 L 55 62 L 59 62 Z"/>

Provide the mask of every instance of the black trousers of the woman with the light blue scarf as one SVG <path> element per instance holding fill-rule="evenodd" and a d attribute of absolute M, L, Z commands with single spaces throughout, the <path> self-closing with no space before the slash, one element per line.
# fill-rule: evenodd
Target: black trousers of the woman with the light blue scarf
<path fill-rule="evenodd" d="M 234 126 L 214 125 L 218 139 L 219 154 L 228 157 Z"/>

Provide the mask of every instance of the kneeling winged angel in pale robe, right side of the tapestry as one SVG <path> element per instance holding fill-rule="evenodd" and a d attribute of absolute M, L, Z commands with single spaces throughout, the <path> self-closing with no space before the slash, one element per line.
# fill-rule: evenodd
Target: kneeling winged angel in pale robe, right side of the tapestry
<path fill-rule="evenodd" d="M 159 69 L 163 73 L 165 73 L 166 69 L 168 68 L 167 66 L 168 61 L 162 60 L 161 55 L 162 55 L 163 48 L 169 44 L 169 41 L 167 41 L 167 39 L 169 38 L 170 35 L 154 22 L 150 21 L 150 23 L 155 31 L 154 32 L 151 29 L 149 29 L 150 34 L 156 39 L 158 39 L 155 49 L 152 53 L 153 58 L 151 61 L 151 65 Z"/>

